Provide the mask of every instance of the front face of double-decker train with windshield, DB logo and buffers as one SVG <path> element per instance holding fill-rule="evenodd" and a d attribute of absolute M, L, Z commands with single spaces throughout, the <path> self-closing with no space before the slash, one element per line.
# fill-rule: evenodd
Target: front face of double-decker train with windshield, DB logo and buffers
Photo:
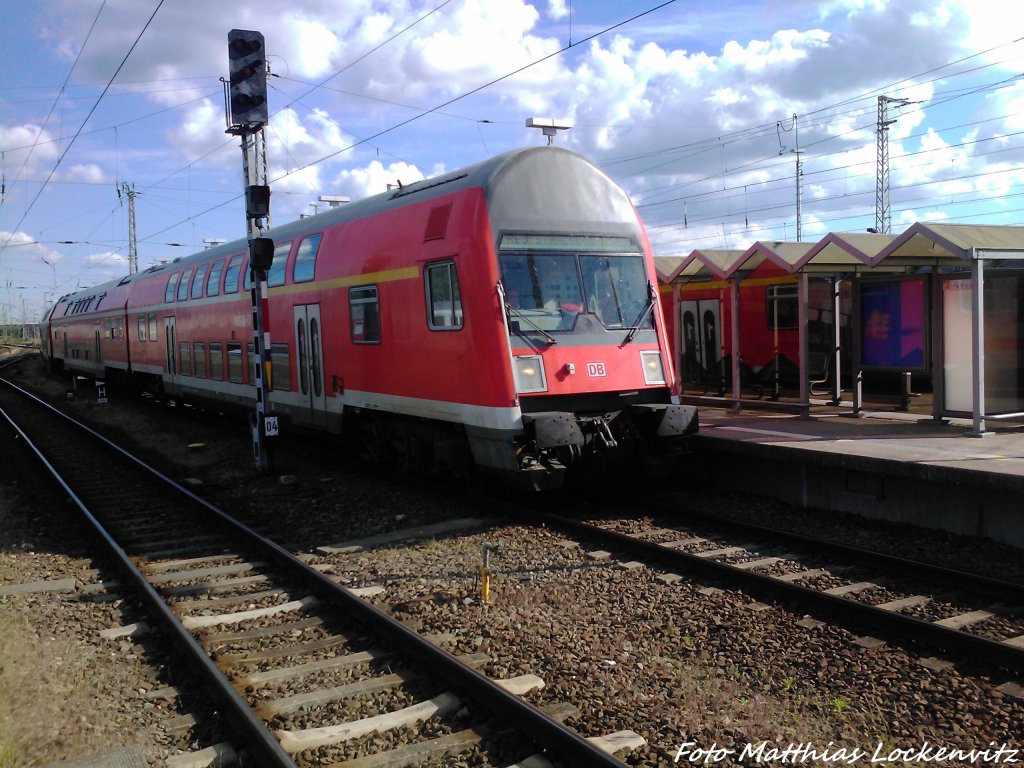
<path fill-rule="evenodd" d="M 697 415 L 672 395 L 642 253 L 623 238 L 587 238 L 587 250 L 552 240 L 500 254 L 521 479 L 552 487 L 664 473 Z"/>

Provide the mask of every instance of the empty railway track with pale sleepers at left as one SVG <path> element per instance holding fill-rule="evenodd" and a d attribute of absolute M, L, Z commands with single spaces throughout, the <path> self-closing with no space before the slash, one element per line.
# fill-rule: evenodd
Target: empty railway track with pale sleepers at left
<path fill-rule="evenodd" d="M 442 639 L 5 381 L 0 415 L 95 527 L 259 764 L 395 765 L 493 744 L 499 764 L 543 765 L 536 751 L 623 765 L 560 722 L 571 707 L 545 713 L 522 698 L 543 681 L 487 678 L 474 669 L 481 659 L 444 652 Z"/>

